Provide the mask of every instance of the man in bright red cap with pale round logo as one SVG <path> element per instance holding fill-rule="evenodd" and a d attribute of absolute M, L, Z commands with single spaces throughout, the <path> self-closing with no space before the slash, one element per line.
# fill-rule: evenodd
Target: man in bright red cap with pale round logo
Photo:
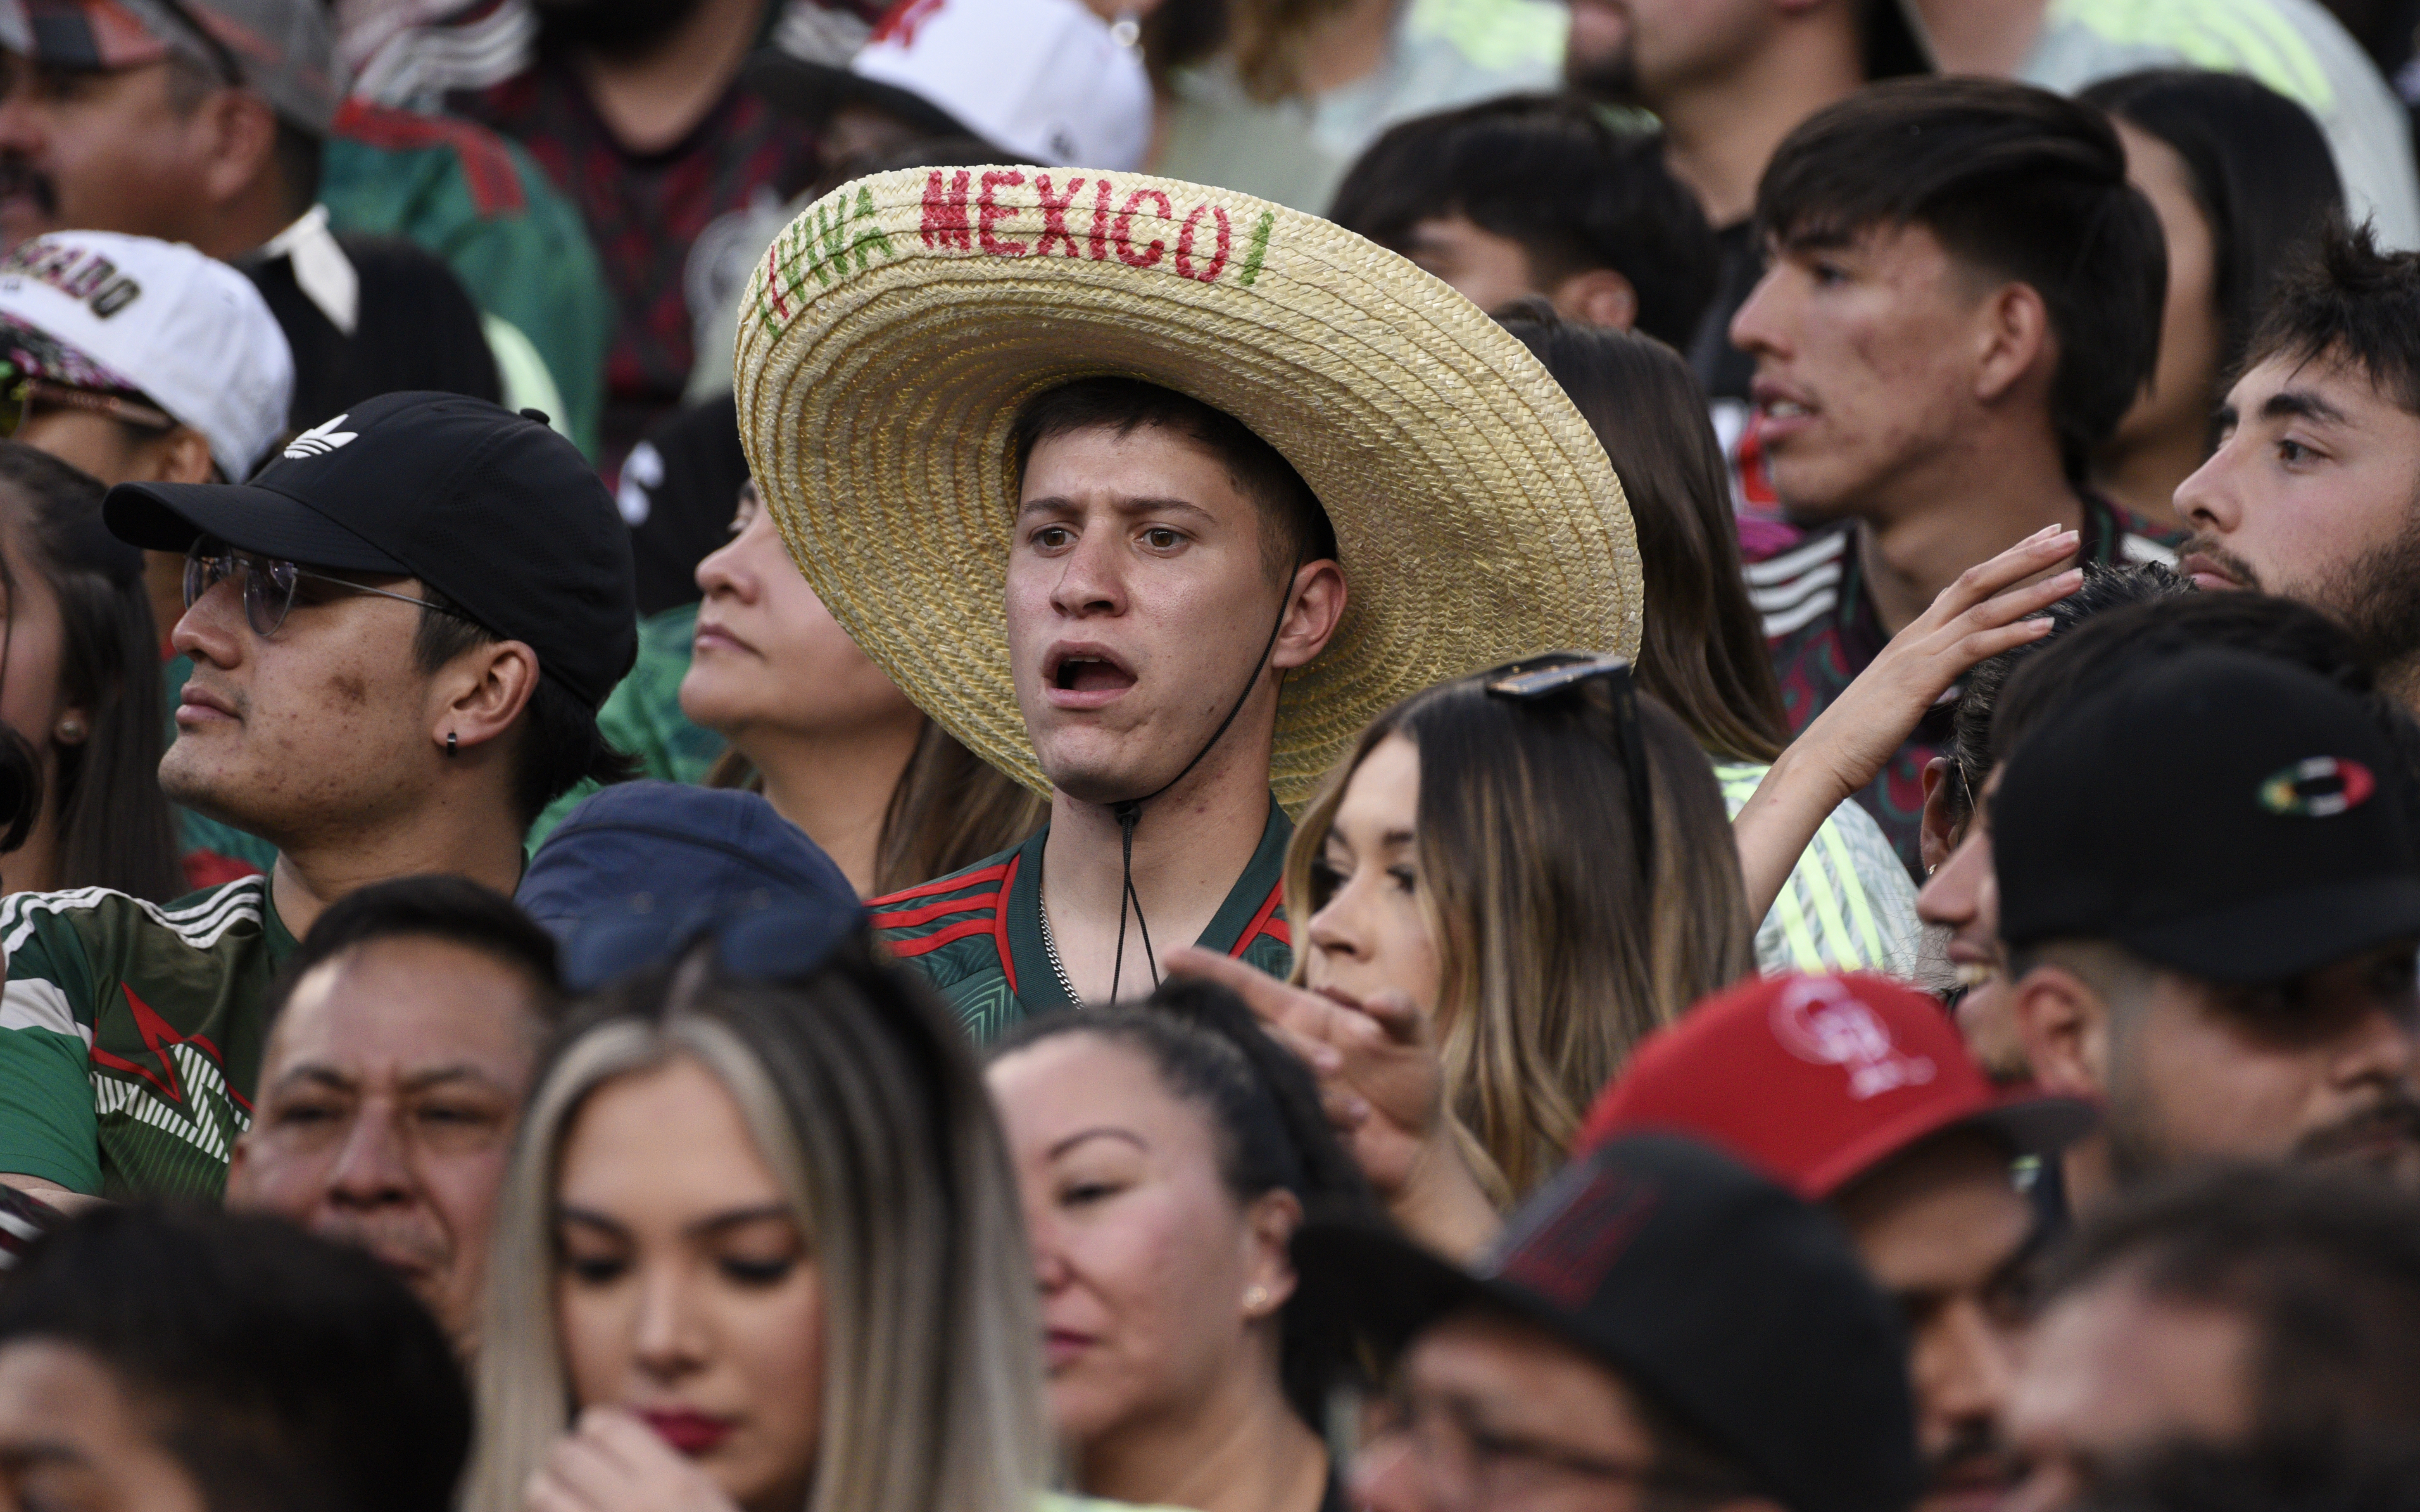
<path fill-rule="evenodd" d="M 1689 1135 L 1830 1207 L 1907 1321 L 1917 1512 L 1992 1512 L 2021 1476 L 2004 1418 L 2042 1236 L 2009 1171 L 2091 1123 L 2088 1103 L 1994 1089 L 1934 997 L 1883 977 L 1769 977 L 1648 1038 L 1578 1149 Z"/>

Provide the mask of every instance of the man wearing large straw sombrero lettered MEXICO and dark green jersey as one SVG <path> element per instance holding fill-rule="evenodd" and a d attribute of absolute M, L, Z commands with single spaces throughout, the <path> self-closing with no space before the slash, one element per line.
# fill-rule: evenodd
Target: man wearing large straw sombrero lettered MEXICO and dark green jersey
<path fill-rule="evenodd" d="M 1544 368 L 1401 256 L 1140 174 L 878 174 L 741 312 L 741 440 L 859 646 L 1050 793 L 1014 852 L 874 902 L 975 1038 L 1287 968 L 1278 864 L 1370 716 L 1638 644 L 1629 508 Z"/>

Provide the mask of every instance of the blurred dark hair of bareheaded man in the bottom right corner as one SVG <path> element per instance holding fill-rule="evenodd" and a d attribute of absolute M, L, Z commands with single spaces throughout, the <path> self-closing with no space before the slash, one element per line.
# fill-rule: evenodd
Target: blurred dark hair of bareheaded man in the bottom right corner
<path fill-rule="evenodd" d="M 2042 1304 L 2103 1282 L 2238 1314 L 2253 1447 L 2360 1459 L 2420 1447 L 2420 1205 L 2304 1166 L 2202 1171 L 2101 1212 Z"/>

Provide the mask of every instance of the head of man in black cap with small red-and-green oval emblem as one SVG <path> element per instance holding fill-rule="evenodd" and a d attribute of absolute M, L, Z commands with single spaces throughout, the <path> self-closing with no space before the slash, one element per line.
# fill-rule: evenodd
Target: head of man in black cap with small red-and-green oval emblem
<path fill-rule="evenodd" d="M 2033 1074 L 2103 1101 L 2069 1200 L 2212 1159 L 2420 1185 L 2410 779 L 2372 704 L 2185 651 L 2038 723 L 1992 796 Z"/>

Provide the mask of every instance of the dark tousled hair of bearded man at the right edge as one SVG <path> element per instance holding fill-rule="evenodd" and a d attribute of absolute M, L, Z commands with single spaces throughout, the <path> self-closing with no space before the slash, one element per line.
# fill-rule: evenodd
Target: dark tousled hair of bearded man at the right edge
<path fill-rule="evenodd" d="M 2321 230 L 2277 281 L 2243 365 L 2270 358 L 2355 363 L 2393 404 L 2420 414 L 2420 252 L 2381 252 L 2367 225 Z"/>

